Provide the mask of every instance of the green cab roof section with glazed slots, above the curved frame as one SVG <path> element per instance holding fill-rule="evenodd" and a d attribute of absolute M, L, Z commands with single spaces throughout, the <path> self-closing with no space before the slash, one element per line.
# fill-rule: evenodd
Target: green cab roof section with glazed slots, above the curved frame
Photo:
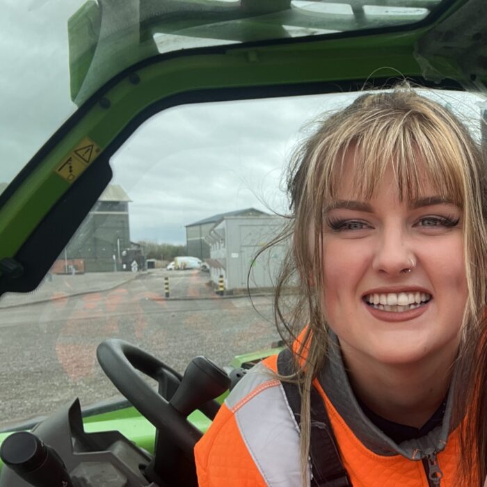
<path fill-rule="evenodd" d="M 86 2 L 68 21 L 79 106 L 131 64 L 159 53 L 432 22 L 448 0 L 149 0 Z M 53 7 L 54 10 L 54 7 Z M 47 17 L 49 18 L 49 17 Z M 113 56 L 113 52 L 118 53 Z"/>

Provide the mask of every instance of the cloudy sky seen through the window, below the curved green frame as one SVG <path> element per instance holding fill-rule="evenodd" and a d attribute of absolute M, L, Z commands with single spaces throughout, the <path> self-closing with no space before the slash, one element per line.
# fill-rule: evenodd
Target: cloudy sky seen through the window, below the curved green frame
<path fill-rule="evenodd" d="M 145 122 L 112 159 L 131 238 L 184 243 L 184 225 L 224 211 L 285 211 L 282 175 L 309 122 L 356 95 L 180 106 Z M 442 93 L 478 131 L 477 99 Z M 461 100 L 459 102 L 458 100 Z"/>

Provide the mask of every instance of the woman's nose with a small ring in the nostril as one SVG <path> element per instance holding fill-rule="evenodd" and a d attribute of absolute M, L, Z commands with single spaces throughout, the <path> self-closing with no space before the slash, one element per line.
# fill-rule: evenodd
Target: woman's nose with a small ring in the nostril
<path fill-rule="evenodd" d="M 415 254 L 405 230 L 399 226 L 384 228 L 377 242 L 372 268 L 389 276 L 412 270 Z"/>

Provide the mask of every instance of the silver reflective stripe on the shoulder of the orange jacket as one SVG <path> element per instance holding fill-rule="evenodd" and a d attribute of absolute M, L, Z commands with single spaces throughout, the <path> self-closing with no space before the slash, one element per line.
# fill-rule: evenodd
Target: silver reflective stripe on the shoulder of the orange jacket
<path fill-rule="evenodd" d="M 301 487 L 299 429 L 280 381 L 257 365 L 225 400 L 269 487 Z"/>

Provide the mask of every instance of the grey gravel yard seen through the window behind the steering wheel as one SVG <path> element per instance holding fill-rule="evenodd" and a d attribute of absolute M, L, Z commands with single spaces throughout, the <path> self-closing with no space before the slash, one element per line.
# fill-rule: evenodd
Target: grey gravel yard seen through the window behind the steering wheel
<path fill-rule="evenodd" d="M 164 277 L 170 298 L 164 298 Z M 0 429 L 48 415 L 75 397 L 82 406 L 119 398 L 97 364 L 108 337 L 141 346 L 184 372 L 205 355 L 228 365 L 278 339 L 271 296 L 217 296 L 200 271 L 53 276 L 31 294 L 0 300 Z"/>

